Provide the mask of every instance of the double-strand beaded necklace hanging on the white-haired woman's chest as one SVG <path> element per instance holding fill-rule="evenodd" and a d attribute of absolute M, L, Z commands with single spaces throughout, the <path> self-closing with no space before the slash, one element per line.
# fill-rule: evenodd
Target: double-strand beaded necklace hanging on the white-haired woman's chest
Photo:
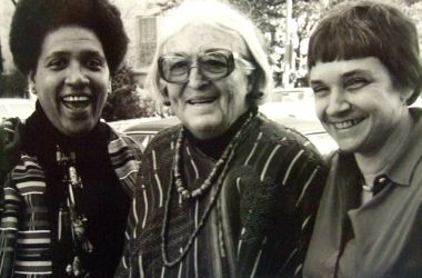
<path fill-rule="evenodd" d="M 211 209 L 213 208 L 218 195 L 221 190 L 221 186 L 223 183 L 223 179 L 225 177 L 227 171 L 229 170 L 230 162 L 234 156 L 235 149 L 238 148 L 242 135 L 244 133 L 243 131 L 247 129 L 249 123 L 252 121 L 254 118 L 255 112 L 250 112 L 248 119 L 244 121 L 240 130 L 235 133 L 229 146 L 224 149 L 223 153 L 221 155 L 219 161 L 215 163 L 213 169 L 211 170 L 211 173 L 209 177 L 205 179 L 205 181 L 195 190 L 190 192 L 184 186 L 183 186 L 183 180 L 182 180 L 182 175 L 181 175 L 181 169 L 182 169 L 182 147 L 183 147 L 183 129 L 180 130 L 177 145 L 175 145 L 175 151 L 174 151 L 174 162 L 173 162 L 173 170 L 172 175 L 170 178 L 170 186 L 168 189 L 168 195 L 167 195 L 167 200 L 165 200 L 165 208 L 164 208 L 164 217 L 163 217 L 163 224 L 162 224 L 162 230 L 161 230 L 161 256 L 162 260 L 164 262 L 165 267 L 172 267 L 179 264 L 184 256 L 188 254 L 190 248 L 192 247 L 193 240 L 197 238 L 199 231 L 202 229 L 202 227 L 205 224 L 205 220 L 208 219 Z M 173 188 L 173 182 L 175 183 L 175 187 L 178 189 L 178 193 L 182 197 L 183 200 L 189 200 L 189 199 L 195 199 L 201 197 L 204 192 L 210 189 L 210 187 L 213 185 L 213 181 L 215 180 L 217 175 L 220 173 L 220 176 L 217 179 L 215 182 L 215 190 L 212 193 L 210 201 L 198 224 L 193 232 L 189 236 L 188 242 L 184 248 L 182 248 L 181 252 L 174 260 L 169 260 L 168 255 L 167 255 L 167 234 L 168 234 L 168 226 L 169 226 L 169 218 L 170 218 L 170 205 L 171 205 L 171 193 L 172 193 L 172 188 Z"/>

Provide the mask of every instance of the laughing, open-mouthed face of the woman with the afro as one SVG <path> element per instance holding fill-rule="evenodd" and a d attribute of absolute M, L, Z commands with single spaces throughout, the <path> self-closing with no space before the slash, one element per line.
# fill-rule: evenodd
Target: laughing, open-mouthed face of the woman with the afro
<path fill-rule="evenodd" d="M 102 44 L 89 29 L 62 27 L 47 34 L 30 79 L 48 119 L 63 135 L 83 136 L 99 121 L 110 73 Z"/>

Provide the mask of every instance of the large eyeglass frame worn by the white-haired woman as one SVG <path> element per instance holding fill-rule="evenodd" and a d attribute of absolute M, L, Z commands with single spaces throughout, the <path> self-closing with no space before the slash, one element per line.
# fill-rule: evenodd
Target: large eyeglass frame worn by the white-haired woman
<path fill-rule="evenodd" d="M 198 63 L 199 63 L 199 60 L 201 57 L 205 56 L 205 54 L 209 54 L 209 53 L 212 53 L 212 52 L 218 52 L 218 51 L 225 51 L 229 53 L 229 57 L 228 58 L 228 71 L 227 73 L 224 73 L 223 76 L 221 77 L 218 77 L 218 78 L 209 78 L 207 77 L 207 75 L 204 75 L 202 72 L 202 69 L 201 67 L 198 67 Z M 252 64 L 251 61 L 247 60 L 245 58 L 243 58 L 239 52 L 235 52 L 235 51 L 232 51 L 230 49 L 225 49 L 225 48 L 210 48 L 210 49 L 207 49 L 204 51 L 202 51 L 201 53 L 197 54 L 197 58 L 194 60 L 192 59 L 187 59 L 187 61 L 189 61 L 189 70 L 187 71 L 187 78 L 185 80 L 183 81 L 169 81 L 165 79 L 165 75 L 163 72 L 163 69 L 162 69 L 162 60 L 165 59 L 167 56 L 170 56 L 170 54 L 174 54 L 174 56 L 180 56 L 180 57 L 184 57 L 184 58 L 188 58 L 188 54 L 184 54 L 184 53 L 180 53 L 180 52 L 169 52 L 169 53 L 165 53 L 165 54 L 162 54 L 159 59 L 158 59 L 158 69 L 159 69 L 159 72 L 160 72 L 160 77 L 165 81 L 165 82 L 169 82 L 169 83 L 177 83 L 177 85 L 184 85 L 187 82 L 189 82 L 189 77 L 191 75 L 191 70 L 192 68 L 197 68 L 199 73 L 204 77 L 207 80 L 212 80 L 212 81 L 215 81 L 215 80 L 220 80 L 220 79 L 223 79 L 223 78 L 227 78 L 228 76 L 230 76 L 234 69 L 235 69 L 235 63 L 234 61 L 238 60 L 238 61 L 241 61 L 243 62 L 243 64 L 245 66 L 244 69 L 247 70 L 254 70 L 255 67 Z"/>

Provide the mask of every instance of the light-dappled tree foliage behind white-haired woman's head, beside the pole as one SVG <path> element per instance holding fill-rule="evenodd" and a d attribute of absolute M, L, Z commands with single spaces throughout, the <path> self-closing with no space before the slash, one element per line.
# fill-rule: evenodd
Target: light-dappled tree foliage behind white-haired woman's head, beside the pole
<path fill-rule="evenodd" d="M 248 16 L 255 26 L 264 34 L 268 41 L 268 52 L 270 63 L 274 72 L 274 81 L 277 86 L 281 85 L 282 73 L 284 69 L 284 54 L 287 44 L 287 3 L 281 0 L 222 0 L 240 10 L 243 14 Z M 338 0 L 331 0 L 336 2 Z M 171 0 L 160 3 L 162 13 L 174 8 L 181 0 Z M 300 46 L 307 44 L 314 26 L 318 23 L 325 7 L 320 1 L 293 0 L 292 18 L 295 24 L 293 26 L 294 32 L 291 34 L 293 41 L 293 60 L 294 70 L 292 79 L 303 78 L 305 75 L 304 68 L 304 52 L 305 48 Z"/>

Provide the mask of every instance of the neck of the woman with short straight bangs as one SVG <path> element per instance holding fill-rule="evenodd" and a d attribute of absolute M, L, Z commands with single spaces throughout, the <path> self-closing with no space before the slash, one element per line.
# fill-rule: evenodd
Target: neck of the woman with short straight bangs
<path fill-rule="evenodd" d="M 374 151 L 356 152 L 354 157 L 366 185 L 372 185 L 373 179 L 384 173 L 391 163 L 398 158 L 406 145 L 413 128 L 413 120 L 405 109 L 396 123 L 396 128 L 390 133 L 384 143 Z"/>

